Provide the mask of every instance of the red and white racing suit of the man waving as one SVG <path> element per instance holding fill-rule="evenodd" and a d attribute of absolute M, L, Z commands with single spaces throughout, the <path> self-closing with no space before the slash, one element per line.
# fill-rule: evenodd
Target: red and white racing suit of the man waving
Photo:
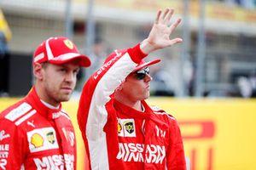
<path fill-rule="evenodd" d="M 113 97 L 145 56 L 139 44 L 116 51 L 84 85 L 78 120 L 90 169 L 186 169 L 173 116 L 145 101 L 145 111 L 136 111 Z"/>

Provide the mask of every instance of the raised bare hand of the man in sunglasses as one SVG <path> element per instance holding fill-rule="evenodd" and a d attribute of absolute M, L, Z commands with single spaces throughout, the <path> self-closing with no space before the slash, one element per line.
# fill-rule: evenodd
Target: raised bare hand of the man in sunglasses
<path fill-rule="evenodd" d="M 166 48 L 183 41 L 178 37 L 170 39 L 172 31 L 174 31 L 181 22 L 181 19 L 177 19 L 171 26 L 168 26 L 173 13 L 174 10 L 170 8 L 166 8 L 164 13 L 161 10 L 158 11 L 156 19 L 154 20 L 154 26 L 152 27 L 148 38 L 141 43 L 143 53 L 149 54 L 154 50 Z"/>

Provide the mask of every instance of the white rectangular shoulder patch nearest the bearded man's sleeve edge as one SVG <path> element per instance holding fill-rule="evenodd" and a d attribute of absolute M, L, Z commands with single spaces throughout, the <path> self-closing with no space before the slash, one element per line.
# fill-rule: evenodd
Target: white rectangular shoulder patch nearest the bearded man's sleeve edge
<path fill-rule="evenodd" d="M 18 119 L 20 116 L 23 116 L 24 114 L 27 113 L 27 111 L 30 111 L 31 109 L 32 109 L 32 106 L 24 102 L 18 107 L 16 107 L 14 110 L 10 111 L 5 116 L 5 118 L 9 119 L 11 122 L 14 122 L 16 119 Z"/>

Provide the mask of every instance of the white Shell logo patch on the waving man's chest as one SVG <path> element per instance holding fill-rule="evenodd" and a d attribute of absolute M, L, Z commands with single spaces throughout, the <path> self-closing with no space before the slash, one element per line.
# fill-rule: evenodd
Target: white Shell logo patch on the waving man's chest
<path fill-rule="evenodd" d="M 121 137 L 136 137 L 134 119 L 118 119 L 118 135 Z"/>

